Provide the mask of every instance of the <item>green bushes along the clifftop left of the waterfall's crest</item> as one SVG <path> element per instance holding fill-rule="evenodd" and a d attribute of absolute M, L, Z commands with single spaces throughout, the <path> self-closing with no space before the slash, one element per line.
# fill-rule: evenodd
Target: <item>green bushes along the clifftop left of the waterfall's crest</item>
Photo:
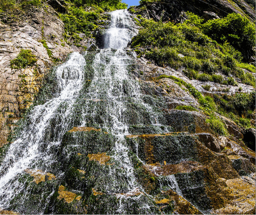
<path fill-rule="evenodd" d="M 31 6 L 45 10 L 49 7 L 47 0 L 0 0 L 0 13 L 17 21 Z M 104 12 L 126 9 L 127 4 L 121 0 L 65 0 L 67 13 L 59 13 L 65 24 L 65 38 L 77 37 L 77 33 L 92 36 L 91 31 L 104 25 L 109 18 Z"/>

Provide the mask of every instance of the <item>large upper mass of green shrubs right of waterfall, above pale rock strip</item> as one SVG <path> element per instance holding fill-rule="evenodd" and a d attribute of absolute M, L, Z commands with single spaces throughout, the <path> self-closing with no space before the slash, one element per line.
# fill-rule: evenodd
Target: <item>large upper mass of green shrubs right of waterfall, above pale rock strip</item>
<path fill-rule="evenodd" d="M 246 40 L 247 45 L 249 44 L 247 49 L 251 50 L 253 42 L 255 44 L 255 35 L 254 40 L 252 40 L 255 26 L 247 18 L 236 14 L 218 19 L 220 26 L 225 22 L 230 25 L 233 24 L 233 27 L 239 28 L 241 26 L 243 28 L 238 33 L 240 36 L 238 35 L 237 43 L 231 43 L 231 37 L 229 40 L 223 41 L 218 39 L 220 41 L 218 43 L 205 33 L 208 28 L 206 26 L 216 26 L 218 22 L 208 21 L 202 24 L 203 19 L 200 17 L 189 12 L 187 15 L 189 19 L 183 24 L 177 25 L 172 22 L 155 22 L 142 18 L 141 25 L 144 28 L 133 38 L 132 47 L 136 49 L 139 56 L 144 54 L 146 58 L 154 60 L 159 66 L 170 66 L 176 69 L 185 67 L 183 72 L 190 79 L 236 85 L 237 82 L 234 78 L 237 78 L 242 83 L 254 86 L 254 75 L 241 68 L 252 72 L 255 67 L 241 63 L 243 57 L 236 44 L 240 40 L 240 45 L 245 43 L 247 37 L 241 32 L 247 32 L 250 34 L 248 35 L 250 39 Z M 217 37 L 217 35 L 215 36 Z M 214 39 L 217 40 L 215 37 Z M 245 57 L 245 55 L 243 56 Z M 228 76 L 228 78 L 223 75 L 216 75 L 216 72 Z"/>

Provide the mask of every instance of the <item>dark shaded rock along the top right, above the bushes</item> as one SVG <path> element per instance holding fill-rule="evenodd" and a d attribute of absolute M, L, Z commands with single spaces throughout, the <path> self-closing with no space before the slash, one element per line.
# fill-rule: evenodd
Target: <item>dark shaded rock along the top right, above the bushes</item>
<path fill-rule="evenodd" d="M 226 17 L 228 13 L 240 13 L 255 20 L 255 10 L 244 0 L 163 0 L 148 2 L 134 8 L 136 13 L 156 21 L 182 22 L 184 12 L 192 12 L 205 19 Z M 132 9 L 130 9 L 132 11 Z M 216 16 L 217 14 L 217 16 Z"/>

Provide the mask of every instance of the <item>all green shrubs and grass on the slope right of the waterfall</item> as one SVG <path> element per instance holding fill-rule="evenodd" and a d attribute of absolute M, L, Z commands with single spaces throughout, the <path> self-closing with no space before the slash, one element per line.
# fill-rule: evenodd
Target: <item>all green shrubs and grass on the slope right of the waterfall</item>
<path fill-rule="evenodd" d="M 255 44 L 255 25 L 238 14 L 206 23 L 192 13 L 187 12 L 187 16 L 184 23 L 174 24 L 156 22 L 137 15 L 142 29 L 132 39 L 131 46 L 138 57 L 143 55 L 159 66 L 182 69 L 189 79 L 224 85 L 237 85 L 237 80 L 240 80 L 255 86 L 255 66 L 243 62 L 243 47 L 246 44 L 247 50 L 252 50 Z M 210 35 L 213 29 L 218 29 L 219 33 Z M 211 98 L 203 96 L 192 85 L 176 77 L 159 78 L 169 78 L 185 86 L 198 99 L 202 111 L 209 115 L 209 125 L 216 133 L 224 135 L 226 130 L 223 123 L 214 116 L 215 112 L 245 128 L 251 126 L 250 119 L 255 112 L 255 92 L 237 92 L 232 96 L 222 93 Z M 207 88 L 207 85 L 204 87 Z"/>

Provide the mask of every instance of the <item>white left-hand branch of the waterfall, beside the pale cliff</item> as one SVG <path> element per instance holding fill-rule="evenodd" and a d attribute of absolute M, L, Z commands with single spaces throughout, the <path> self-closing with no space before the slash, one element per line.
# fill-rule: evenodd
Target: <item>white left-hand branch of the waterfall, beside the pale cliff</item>
<path fill-rule="evenodd" d="M 45 142 L 45 133 L 58 113 L 58 108 L 63 104 L 67 106 L 67 109 L 61 116 L 62 129 L 56 131 L 58 138 L 54 142 L 48 142 L 47 147 L 58 145 L 63 134 L 67 131 L 68 116 L 83 85 L 85 64 L 84 57 L 75 52 L 71 54 L 66 63 L 57 68 L 59 96 L 45 104 L 35 106 L 28 116 L 31 123 L 24 128 L 20 137 L 11 144 L 0 167 L 0 208 L 8 207 L 9 201 L 19 194 L 17 188 L 23 187 L 23 184 L 16 178 L 18 174 L 24 173 L 24 170 L 28 168 L 40 169 L 41 161 L 44 162 L 43 166 L 49 166 L 50 162 L 53 162 L 51 155 L 41 149 Z"/>

